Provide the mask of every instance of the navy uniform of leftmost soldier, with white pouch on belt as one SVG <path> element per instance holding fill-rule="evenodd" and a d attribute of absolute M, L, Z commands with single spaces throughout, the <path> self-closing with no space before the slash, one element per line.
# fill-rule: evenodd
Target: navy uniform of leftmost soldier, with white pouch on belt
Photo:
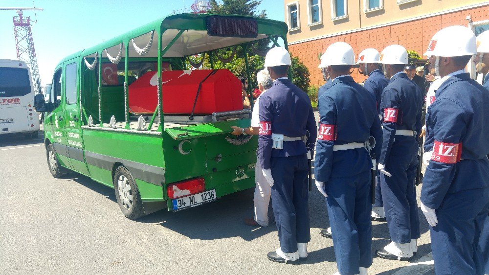
<path fill-rule="evenodd" d="M 307 148 L 314 149 L 317 128 L 309 96 L 288 78 L 280 78 L 261 95 L 258 159 L 263 169 L 271 169 L 275 181 L 271 198 L 282 252 L 297 251 L 297 243 L 311 240 L 308 208 Z M 283 149 L 272 149 L 271 134 L 302 140 L 284 141 Z"/>

